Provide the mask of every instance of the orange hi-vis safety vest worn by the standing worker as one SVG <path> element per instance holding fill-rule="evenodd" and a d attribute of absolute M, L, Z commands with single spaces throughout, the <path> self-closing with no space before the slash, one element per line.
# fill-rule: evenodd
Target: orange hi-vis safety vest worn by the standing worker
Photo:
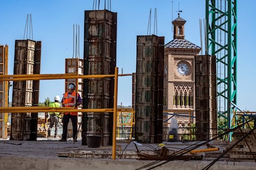
<path fill-rule="evenodd" d="M 75 107 L 75 102 L 77 100 L 77 92 L 73 92 L 72 94 L 69 94 L 69 92 L 66 92 L 63 96 L 63 104 L 64 104 L 64 107 L 74 107 L 74 108 L 77 108 Z M 77 115 L 77 112 L 67 112 L 67 113 L 64 113 L 65 115 L 69 114 L 70 115 Z"/>

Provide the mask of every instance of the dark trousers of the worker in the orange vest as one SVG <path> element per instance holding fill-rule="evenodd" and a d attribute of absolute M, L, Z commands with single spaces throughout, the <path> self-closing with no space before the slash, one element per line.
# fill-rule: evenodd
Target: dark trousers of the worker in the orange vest
<path fill-rule="evenodd" d="M 62 139 L 67 139 L 67 124 L 69 124 L 69 118 L 72 121 L 73 139 L 75 139 L 75 136 L 77 135 L 77 115 L 64 114 L 62 118 L 62 123 L 63 123 Z"/>

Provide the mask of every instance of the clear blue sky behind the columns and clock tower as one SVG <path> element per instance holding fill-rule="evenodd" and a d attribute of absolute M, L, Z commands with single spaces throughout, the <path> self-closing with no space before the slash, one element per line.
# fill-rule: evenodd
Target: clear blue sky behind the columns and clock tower
<path fill-rule="evenodd" d="M 255 5 L 254 0 L 237 0 L 237 106 L 250 111 L 256 111 Z M 148 33 L 150 8 L 151 31 Z M 155 8 L 157 27 L 154 32 Z M 84 11 L 93 10 L 93 0 L 8 0 L 1 1 L 0 9 L 0 44 L 9 46 L 9 75 L 13 75 L 14 70 L 15 40 L 23 39 L 28 14 L 32 15 L 33 40 L 42 41 L 41 74 L 65 73 L 65 59 L 73 56 L 74 24 L 80 26 L 79 54 L 83 59 Z M 104 9 L 104 1 L 100 2 L 100 9 Z M 173 39 L 171 21 L 177 17 L 177 10 L 182 10 L 181 17 L 187 20 L 185 38 L 200 46 L 199 19 L 205 18 L 204 0 L 111 1 L 111 11 L 117 12 L 119 73 L 136 70 L 137 35 L 164 36 L 165 44 Z M 63 93 L 63 79 L 40 81 L 40 102 L 46 97 L 53 100 L 54 95 Z M 119 77 L 117 103 L 132 105 L 131 76 Z"/>

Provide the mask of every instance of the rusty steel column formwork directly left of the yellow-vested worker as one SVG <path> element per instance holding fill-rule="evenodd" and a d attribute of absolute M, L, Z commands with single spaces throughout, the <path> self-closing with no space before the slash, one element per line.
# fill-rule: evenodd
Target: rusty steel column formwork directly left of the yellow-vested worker
<path fill-rule="evenodd" d="M 16 40 L 14 75 L 40 74 L 41 41 Z M 13 107 L 38 105 L 39 81 L 14 81 Z M 37 113 L 12 113 L 11 140 L 36 140 Z"/>

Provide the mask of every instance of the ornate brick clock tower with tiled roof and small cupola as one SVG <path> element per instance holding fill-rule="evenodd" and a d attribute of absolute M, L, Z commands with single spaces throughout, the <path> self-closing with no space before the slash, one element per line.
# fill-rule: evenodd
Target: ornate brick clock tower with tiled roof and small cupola
<path fill-rule="evenodd" d="M 164 118 L 173 115 L 179 124 L 188 124 L 195 115 L 194 57 L 201 48 L 185 39 L 186 20 L 173 20 L 173 40 L 164 48 Z M 191 120 L 193 121 L 193 120 Z"/>

